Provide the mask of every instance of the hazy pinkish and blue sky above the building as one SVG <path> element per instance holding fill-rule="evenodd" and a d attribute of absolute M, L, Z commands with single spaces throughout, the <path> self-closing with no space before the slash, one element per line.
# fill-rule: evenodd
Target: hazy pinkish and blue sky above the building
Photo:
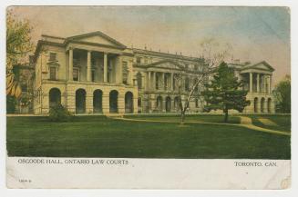
<path fill-rule="evenodd" d="M 33 41 L 101 31 L 128 47 L 200 56 L 200 43 L 231 44 L 231 59 L 275 69 L 273 84 L 291 74 L 290 10 L 286 7 L 17 6 L 29 20 Z"/>

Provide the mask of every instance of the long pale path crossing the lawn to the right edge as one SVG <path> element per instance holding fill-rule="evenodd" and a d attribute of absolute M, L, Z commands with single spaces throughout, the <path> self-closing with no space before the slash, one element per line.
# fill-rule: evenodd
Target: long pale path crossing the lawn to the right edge
<path fill-rule="evenodd" d="M 180 123 L 180 121 L 160 121 L 160 120 L 146 120 L 146 119 L 133 119 L 133 118 L 124 118 L 124 117 L 110 117 L 117 120 L 123 121 L 132 121 L 132 122 L 146 122 L 146 123 Z M 255 126 L 252 124 L 252 118 L 246 116 L 240 116 L 241 123 L 207 123 L 207 122 L 200 122 L 200 121 L 185 121 L 184 123 L 203 123 L 203 124 L 216 124 L 216 125 L 233 125 L 233 126 L 240 126 L 245 127 L 248 129 L 252 129 L 254 131 L 263 132 L 263 133 L 272 133 L 272 134 L 281 134 L 281 135 L 288 135 L 291 136 L 291 133 L 288 132 L 281 132 L 272 129 L 265 129 L 259 126 Z"/>

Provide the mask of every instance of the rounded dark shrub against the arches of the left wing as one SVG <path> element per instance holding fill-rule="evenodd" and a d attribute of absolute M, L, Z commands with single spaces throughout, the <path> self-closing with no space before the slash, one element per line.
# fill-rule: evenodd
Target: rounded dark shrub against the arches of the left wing
<path fill-rule="evenodd" d="M 67 111 L 62 104 L 57 104 L 55 107 L 51 107 L 49 111 L 49 119 L 53 122 L 67 122 L 72 119 L 74 115 Z"/>

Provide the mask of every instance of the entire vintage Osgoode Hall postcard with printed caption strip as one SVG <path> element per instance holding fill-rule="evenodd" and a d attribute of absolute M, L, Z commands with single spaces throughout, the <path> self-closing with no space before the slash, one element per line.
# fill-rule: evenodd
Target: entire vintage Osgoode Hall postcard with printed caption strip
<path fill-rule="evenodd" d="M 8 6 L 8 188 L 288 189 L 290 8 Z"/>

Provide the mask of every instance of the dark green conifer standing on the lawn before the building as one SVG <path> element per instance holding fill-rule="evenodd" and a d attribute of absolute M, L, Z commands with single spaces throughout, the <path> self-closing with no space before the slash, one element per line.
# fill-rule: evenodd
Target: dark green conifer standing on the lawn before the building
<path fill-rule="evenodd" d="M 202 92 L 206 112 L 222 110 L 224 122 L 228 122 L 229 110 L 234 109 L 242 112 L 250 102 L 246 100 L 248 91 L 242 89 L 243 84 L 235 77 L 234 69 L 222 62 L 215 70 L 211 83 L 205 84 Z"/>

